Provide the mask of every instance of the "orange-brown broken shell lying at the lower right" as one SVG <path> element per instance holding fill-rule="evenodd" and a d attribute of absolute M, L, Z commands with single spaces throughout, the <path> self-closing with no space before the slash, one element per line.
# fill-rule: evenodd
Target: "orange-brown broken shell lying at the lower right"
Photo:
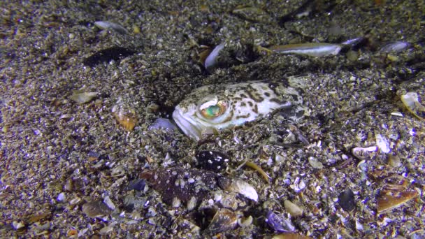
<path fill-rule="evenodd" d="M 377 198 L 377 213 L 381 214 L 398 208 L 412 198 L 415 198 L 415 196 L 417 196 L 417 191 L 410 189 L 405 191 L 382 190 Z"/>

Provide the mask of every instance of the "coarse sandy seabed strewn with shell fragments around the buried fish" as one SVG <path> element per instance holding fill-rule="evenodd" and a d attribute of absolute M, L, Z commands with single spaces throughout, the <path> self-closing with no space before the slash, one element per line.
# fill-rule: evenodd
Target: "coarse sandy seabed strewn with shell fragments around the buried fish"
<path fill-rule="evenodd" d="M 401 102 L 425 104 L 424 1 L 0 5 L 1 238 L 425 237 L 425 121 Z M 327 57 L 259 48 L 354 38 Z M 299 122 L 278 111 L 199 143 L 150 127 L 196 87 L 293 75 L 307 82 Z M 196 171 L 201 150 L 228 155 L 220 175 L 258 201 L 217 188 L 166 203 L 169 185 L 141 179 Z M 230 195 L 227 221 L 212 219 L 217 194 Z"/>

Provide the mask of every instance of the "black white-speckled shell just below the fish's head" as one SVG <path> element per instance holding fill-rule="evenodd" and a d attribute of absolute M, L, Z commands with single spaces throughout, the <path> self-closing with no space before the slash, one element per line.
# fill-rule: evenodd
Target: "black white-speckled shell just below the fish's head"
<path fill-rule="evenodd" d="M 230 157 L 217 151 L 200 151 L 196 152 L 196 160 L 199 168 L 220 172 L 224 171 L 229 164 Z"/>

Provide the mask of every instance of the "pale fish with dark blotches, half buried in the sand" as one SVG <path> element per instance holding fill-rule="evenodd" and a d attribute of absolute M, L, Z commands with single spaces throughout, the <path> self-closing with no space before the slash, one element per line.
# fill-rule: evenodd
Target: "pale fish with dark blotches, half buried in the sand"
<path fill-rule="evenodd" d="M 285 108 L 289 119 L 303 116 L 303 101 L 290 80 L 252 81 L 228 85 L 206 85 L 175 107 L 173 119 L 187 136 L 200 140 L 203 133 L 245 124 Z"/>

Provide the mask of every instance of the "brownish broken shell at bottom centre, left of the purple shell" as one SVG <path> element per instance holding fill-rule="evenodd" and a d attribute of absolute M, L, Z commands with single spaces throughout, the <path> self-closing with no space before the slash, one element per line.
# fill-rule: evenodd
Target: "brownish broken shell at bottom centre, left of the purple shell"
<path fill-rule="evenodd" d="M 214 217 L 212 217 L 206 232 L 210 234 L 217 234 L 222 231 L 235 229 L 237 225 L 238 215 L 229 209 L 222 208 L 215 213 Z"/>

